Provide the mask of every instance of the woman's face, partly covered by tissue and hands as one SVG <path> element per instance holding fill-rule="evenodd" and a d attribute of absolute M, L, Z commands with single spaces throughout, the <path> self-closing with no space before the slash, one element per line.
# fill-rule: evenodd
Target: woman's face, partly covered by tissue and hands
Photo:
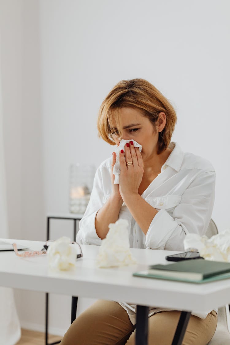
<path fill-rule="evenodd" d="M 156 126 L 142 113 L 134 108 L 121 108 L 122 139 L 135 140 L 142 145 L 141 155 L 143 161 L 148 160 L 157 154 L 158 133 L 166 124 L 166 116 L 163 112 L 159 114 L 159 123 Z M 120 138 L 116 134 L 116 128 L 112 134 L 113 140 L 119 144 Z"/>

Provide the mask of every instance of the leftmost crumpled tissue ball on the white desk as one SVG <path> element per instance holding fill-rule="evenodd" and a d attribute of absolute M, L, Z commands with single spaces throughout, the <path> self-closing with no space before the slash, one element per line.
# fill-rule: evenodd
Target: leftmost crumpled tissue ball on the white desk
<path fill-rule="evenodd" d="M 77 248 L 71 243 L 70 238 L 63 236 L 49 245 L 47 256 L 51 269 L 68 271 L 75 268 Z"/>

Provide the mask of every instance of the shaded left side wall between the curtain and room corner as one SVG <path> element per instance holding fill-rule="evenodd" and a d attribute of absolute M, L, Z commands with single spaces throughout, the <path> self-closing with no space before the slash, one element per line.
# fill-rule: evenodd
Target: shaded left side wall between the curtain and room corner
<path fill-rule="evenodd" d="M 11 238 L 43 240 L 39 2 L 0 2 L 3 133 Z M 43 323 L 44 294 L 15 291 L 24 320 Z M 32 321 L 30 313 L 33 313 Z M 39 315 L 37 317 L 37 315 Z"/>

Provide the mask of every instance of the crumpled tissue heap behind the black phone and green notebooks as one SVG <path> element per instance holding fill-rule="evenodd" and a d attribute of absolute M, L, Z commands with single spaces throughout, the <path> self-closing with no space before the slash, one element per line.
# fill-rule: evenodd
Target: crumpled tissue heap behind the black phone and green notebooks
<path fill-rule="evenodd" d="M 230 262 L 230 229 L 208 238 L 197 234 L 188 234 L 184 239 L 184 249 L 196 248 L 207 260 Z"/>

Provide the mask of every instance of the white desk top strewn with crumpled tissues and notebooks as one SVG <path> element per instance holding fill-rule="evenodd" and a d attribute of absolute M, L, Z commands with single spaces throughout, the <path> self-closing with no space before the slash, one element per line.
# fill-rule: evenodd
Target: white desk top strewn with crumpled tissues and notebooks
<path fill-rule="evenodd" d="M 44 244 L 12 239 L 7 241 L 26 244 L 32 250 L 40 250 Z M 82 245 L 82 250 L 83 258 L 77 260 L 76 270 L 73 272 L 50 271 L 46 256 L 20 258 L 12 251 L 0 252 L 0 285 L 38 292 L 129 301 L 140 306 L 154 305 L 183 311 L 206 311 L 230 304 L 230 279 L 198 285 L 132 276 L 133 272 L 146 269 L 148 265 L 166 263 L 165 256 L 175 252 L 131 249 L 139 264 L 101 269 L 94 262 L 99 247 Z M 143 344 L 146 343 L 142 342 Z"/>

